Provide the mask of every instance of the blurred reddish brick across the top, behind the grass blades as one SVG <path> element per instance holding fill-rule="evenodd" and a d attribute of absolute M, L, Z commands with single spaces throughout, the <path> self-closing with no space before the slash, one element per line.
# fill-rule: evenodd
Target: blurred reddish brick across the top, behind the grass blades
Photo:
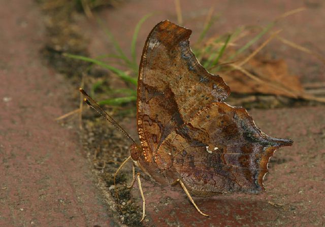
<path fill-rule="evenodd" d="M 282 29 L 280 35 L 285 39 L 322 56 L 325 54 L 325 45 L 323 45 L 325 3 L 322 0 L 186 0 L 180 2 L 184 26 L 193 31 L 190 44 L 193 44 L 201 34 L 210 8 L 214 9 L 215 15 L 219 15 L 219 18 L 208 31 L 207 37 L 234 32 L 241 26 L 266 26 L 290 10 L 305 8 L 305 11 L 278 20 L 273 30 Z M 151 1 L 150 4 L 147 1 L 131 1 L 121 4 L 117 9 L 100 11 L 99 16 L 125 52 L 129 53 L 134 27 L 144 15 L 152 12 L 155 14 L 143 24 L 138 35 L 137 57 L 140 61 L 144 42 L 153 26 L 166 19 L 177 22 L 174 0 Z M 108 42 L 107 35 L 103 29 L 98 29 L 96 21 L 82 26 L 87 27 L 85 33 L 89 34 L 91 40 L 89 51 L 93 56 L 112 51 L 113 47 Z M 263 40 L 267 37 L 269 34 Z M 247 39 L 243 41 L 248 42 Z M 325 64 L 315 56 L 293 49 L 276 39 L 263 51 L 272 57 L 285 59 L 290 72 L 298 75 L 303 82 L 325 82 Z"/>

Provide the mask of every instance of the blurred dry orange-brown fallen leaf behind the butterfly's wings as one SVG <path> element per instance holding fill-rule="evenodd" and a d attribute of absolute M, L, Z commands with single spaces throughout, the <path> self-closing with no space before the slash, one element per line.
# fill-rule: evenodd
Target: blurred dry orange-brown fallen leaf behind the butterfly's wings
<path fill-rule="evenodd" d="M 272 94 L 299 98 L 305 90 L 296 75 L 288 72 L 284 60 L 250 59 L 243 68 L 220 74 L 233 92 Z"/>

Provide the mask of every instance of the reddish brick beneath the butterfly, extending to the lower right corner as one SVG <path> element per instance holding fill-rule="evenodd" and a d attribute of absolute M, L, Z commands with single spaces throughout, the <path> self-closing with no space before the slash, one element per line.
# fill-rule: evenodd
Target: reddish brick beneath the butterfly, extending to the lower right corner
<path fill-rule="evenodd" d="M 146 226 L 324 226 L 325 107 L 252 110 L 255 123 L 294 145 L 277 150 L 259 195 L 194 198 L 203 217 L 182 191 L 143 183 Z M 139 191 L 133 195 L 142 205 Z"/>

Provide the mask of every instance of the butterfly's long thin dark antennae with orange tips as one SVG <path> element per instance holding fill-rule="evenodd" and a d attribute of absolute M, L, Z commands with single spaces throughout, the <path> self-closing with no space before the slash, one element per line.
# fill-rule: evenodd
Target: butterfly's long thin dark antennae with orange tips
<path fill-rule="evenodd" d="M 103 118 L 105 118 L 108 122 L 114 125 L 119 131 L 121 131 L 129 140 L 133 143 L 136 143 L 134 139 L 98 104 L 93 100 L 82 88 L 79 88 L 79 91 L 86 97 L 84 101 L 93 108 L 96 112 L 98 112 Z"/>

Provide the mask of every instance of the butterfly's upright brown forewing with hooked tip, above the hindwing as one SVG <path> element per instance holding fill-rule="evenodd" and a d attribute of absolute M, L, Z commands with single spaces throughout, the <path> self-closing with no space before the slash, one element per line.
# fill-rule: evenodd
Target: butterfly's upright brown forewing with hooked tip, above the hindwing
<path fill-rule="evenodd" d="M 147 162 L 164 139 L 209 103 L 230 94 L 217 75 L 208 73 L 189 48 L 191 30 L 169 21 L 150 32 L 138 80 L 138 130 Z"/>

